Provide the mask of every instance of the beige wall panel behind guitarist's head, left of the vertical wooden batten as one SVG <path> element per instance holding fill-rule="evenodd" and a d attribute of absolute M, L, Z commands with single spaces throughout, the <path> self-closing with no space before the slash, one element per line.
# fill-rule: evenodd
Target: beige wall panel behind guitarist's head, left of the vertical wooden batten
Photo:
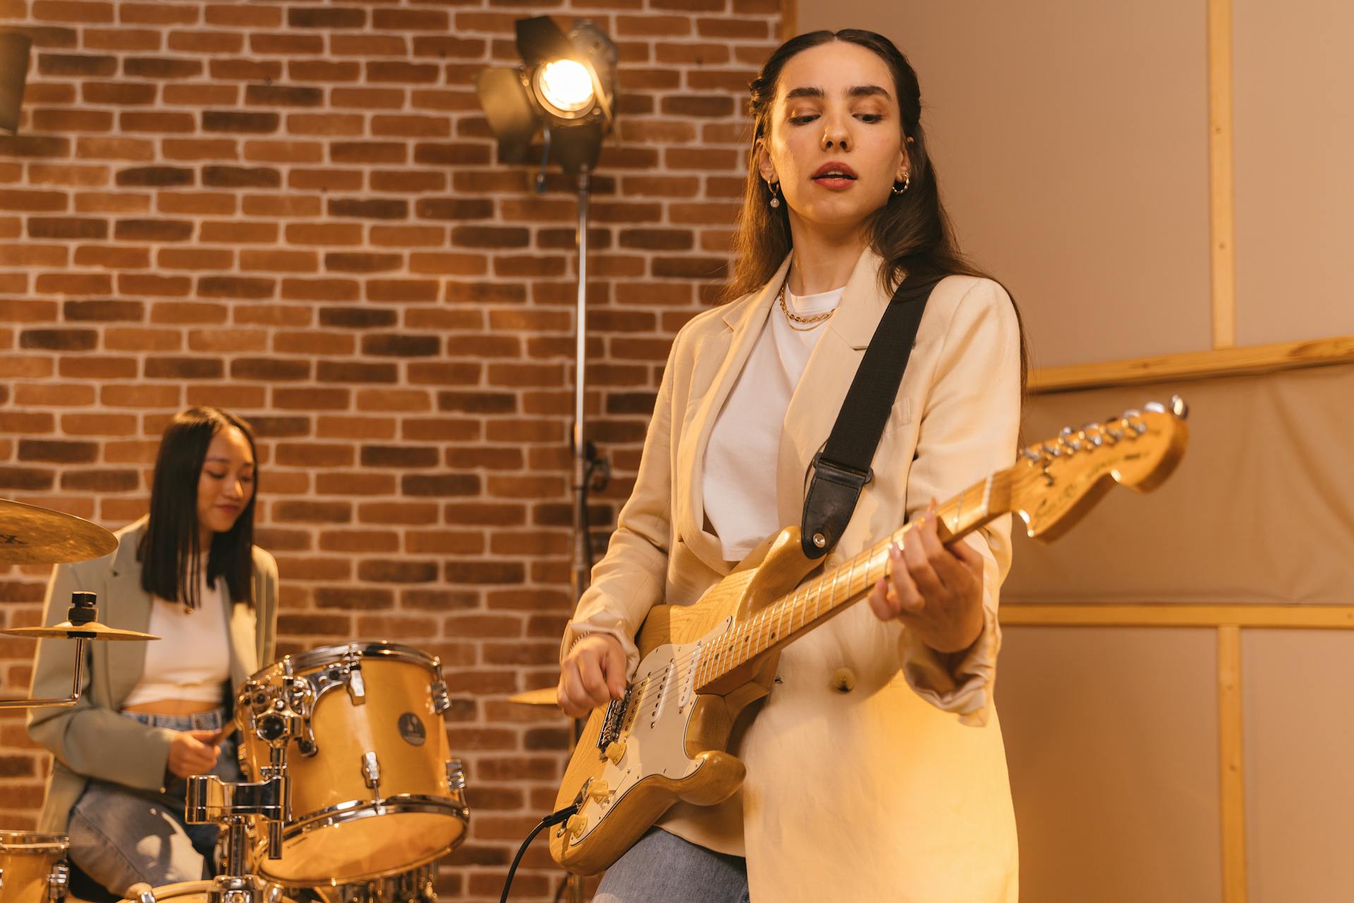
<path fill-rule="evenodd" d="M 1036 367 L 1209 347 L 1201 7 L 802 0 L 799 27 L 907 54 L 944 200 Z"/>

